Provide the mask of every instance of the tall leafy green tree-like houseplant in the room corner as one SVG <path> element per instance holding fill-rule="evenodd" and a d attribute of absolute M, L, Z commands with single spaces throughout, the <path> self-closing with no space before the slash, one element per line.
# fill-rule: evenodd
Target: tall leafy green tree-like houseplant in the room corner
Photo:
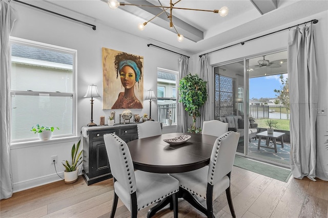
<path fill-rule="evenodd" d="M 207 82 L 198 77 L 198 74 L 183 77 L 179 82 L 179 102 L 185 105 L 185 110 L 192 116 L 193 123 L 188 128 L 189 133 L 199 133 L 201 128 L 196 127 L 196 118 L 200 116 L 200 108 L 206 102 L 208 94 Z"/>

